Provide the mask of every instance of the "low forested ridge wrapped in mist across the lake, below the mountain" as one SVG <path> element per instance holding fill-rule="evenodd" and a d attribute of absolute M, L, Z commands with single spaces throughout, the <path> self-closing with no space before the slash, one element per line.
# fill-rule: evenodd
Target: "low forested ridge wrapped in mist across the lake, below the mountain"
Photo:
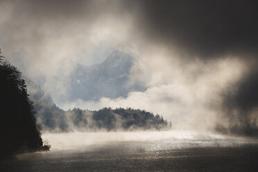
<path fill-rule="evenodd" d="M 104 107 L 98 111 L 74 108 L 67 113 L 72 123 L 80 126 L 78 130 L 161 130 L 169 127 L 169 123 L 159 114 L 132 108 L 112 110 Z"/>

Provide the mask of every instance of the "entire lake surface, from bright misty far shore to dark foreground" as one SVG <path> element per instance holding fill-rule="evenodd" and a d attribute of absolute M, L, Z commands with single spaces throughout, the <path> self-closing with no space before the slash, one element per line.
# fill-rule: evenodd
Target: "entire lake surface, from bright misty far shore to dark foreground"
<path fill-rule="evenodd" d="M 186 131 L 44 134 L 51 151 L 0 171 L 258 171 L 258 142 Z"/>

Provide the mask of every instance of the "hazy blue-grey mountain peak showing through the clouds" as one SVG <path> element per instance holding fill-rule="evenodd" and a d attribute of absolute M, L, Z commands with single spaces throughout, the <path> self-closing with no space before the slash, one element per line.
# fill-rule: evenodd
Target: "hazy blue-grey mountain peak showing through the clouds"
<path fill-rule="evenodd" d="M 141 83 L 130 80 L 132 65 L 132 56 L 121 51 L 113 51 L 101 64 L 76 65 L 70 76 L 69 101 L 98 101 L 101 97 L 126 97 L 129 92 L 146 90 Z"/>

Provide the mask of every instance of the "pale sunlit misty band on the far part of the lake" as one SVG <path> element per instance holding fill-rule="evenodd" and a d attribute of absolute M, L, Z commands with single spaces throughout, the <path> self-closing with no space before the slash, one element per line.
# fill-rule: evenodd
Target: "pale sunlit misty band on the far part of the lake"
<path fill-rule="evenodd" d="M 42 139 L 49 141 L 51 150 L 91 150 L 94 146 L 130 145 L 129 142 L 141 144 L 141 147 L 144 147 L 144 144 L 154 147 L 162 145 L 164 149 L 228 147 L 257 142 L 243 137 L 228 137 L 193 131 L 45 133 L 42 135 Z M 153 146 L 150 146 L 151 149 L 153 149 Z"/>

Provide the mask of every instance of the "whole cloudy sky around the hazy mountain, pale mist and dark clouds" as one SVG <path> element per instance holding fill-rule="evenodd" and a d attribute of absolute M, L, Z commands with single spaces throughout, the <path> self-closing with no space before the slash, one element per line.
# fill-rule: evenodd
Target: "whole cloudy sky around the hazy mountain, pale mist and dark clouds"
<path fill-rule="evenodd" d="M 178 128 L 249 133 L 258 126 L 256 9 L 240 0 L 1 0 L 0 47 L 64 109 L 135 107 Z M 134 58 L 130 81 L 146 89 L 69 100 L 77 64 L 100 64 L 112 51 Z"/>

